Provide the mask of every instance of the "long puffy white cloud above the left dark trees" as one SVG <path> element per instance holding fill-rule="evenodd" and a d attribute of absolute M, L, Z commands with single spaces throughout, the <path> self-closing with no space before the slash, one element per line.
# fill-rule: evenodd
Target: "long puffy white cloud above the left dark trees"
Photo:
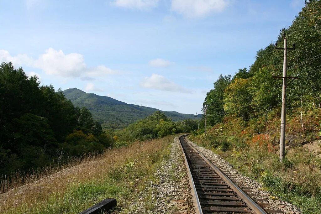
<path fill-rule="evenodd" d="M 109 74 L 117 74 L 105 65 L 88 67 L 85 64 L 84 57 L 78 53 L 65 54 L 62 50 L 49 48 L 44 54 L 39 55 L 34 60 L 25 54 L 11 56 L 8 51 L 0 50 L 0 62 L 12 62 L 15 67 L 26 65 L 33 68 L 39 68 L 49 75 L 58 75 L 63 77 L 79 77 L 79 76 L 104 76 Z"/>

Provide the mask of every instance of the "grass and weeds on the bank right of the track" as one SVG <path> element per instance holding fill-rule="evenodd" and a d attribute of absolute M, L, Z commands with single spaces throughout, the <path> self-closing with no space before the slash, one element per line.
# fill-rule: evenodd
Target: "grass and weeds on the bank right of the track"
<path fill-rule="evenodd" d="M 303 213 L 321 213 L 321 161 L 302 147 L 287 152 L 283 163 L 277 152 L 259 146 L 230 141 L 190 137 L 195 143 L 221 155 L 242 174 L 262 183 L 280 199 L 297 205 Z M 219 143 L 217 143 L 219 142 Z"/>

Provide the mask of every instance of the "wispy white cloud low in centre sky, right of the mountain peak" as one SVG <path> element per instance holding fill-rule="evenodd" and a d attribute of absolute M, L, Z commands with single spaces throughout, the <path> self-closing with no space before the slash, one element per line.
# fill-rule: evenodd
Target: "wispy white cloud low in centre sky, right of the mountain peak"
<path fill-rule="evenodd" d="M 145 77 L 141 82 L 141 86 L 144 88 L 174 91 L 182 93 L 191 93 L 190 90 L 183 88 L 180 85 L 166 79 L 164 76 L 153 73 L 151 77 Z"/>

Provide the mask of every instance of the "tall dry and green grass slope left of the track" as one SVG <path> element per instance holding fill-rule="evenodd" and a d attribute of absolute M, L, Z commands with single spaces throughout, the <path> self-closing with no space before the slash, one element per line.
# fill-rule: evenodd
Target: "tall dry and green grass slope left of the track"
<path fill-rule="evenodd" d="M 169 144 L 173 138 L 167 136 L 106 150 L 103 155 L 70 163 L 80 165 L 49 177 L 44 171 L 7 180 L 1 184 L 1 189 L 14 189 L 5 197 L 0 196 L 0 213 L 79 213 L 105 198 L 116 198 L 116 210 L 128 213 L 127 207 L 139 200 L 138 193 L 145 190 L 147 181 L 155 181 L 154 172 L 160 162 L 169 158 Z M 41 180 L 17 188 L 19 184 L 37 179 Z M 153 209 L 152 199 L 148 201 L 147 197 L 146 200 L 148 208 Z"/>

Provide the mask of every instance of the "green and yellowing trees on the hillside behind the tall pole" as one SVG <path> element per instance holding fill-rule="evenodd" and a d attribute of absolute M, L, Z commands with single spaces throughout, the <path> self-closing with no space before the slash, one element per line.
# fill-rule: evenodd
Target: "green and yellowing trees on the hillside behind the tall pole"
<path fill-rule="evenodd" d="M 278 47 L 283 47 L 285 33 L 288 47 L 295 44 L 295 50 L 288 50 L 287 75 L 299 79 L 288 79 L 286 107 L 289 116 L 299 118 L 302 129 L 308 126 L 305 113 L 321 107 L 321 2 L 310 0 L 305 4 L 276 41 Z M 273 73 L 282 76 L 282 70 L 283 51 L 270 44 L 257 52 L 249 69 L 239 69 L 234 76 L 220 75 L 204 101 L 211 115 L 208 124 L 226 122 L 224 118 L 230 116 L 238 118 L 243 127 L 251 126 L 253 133 L 263 132 L 268 119 L 280 114 L 282 78 L 273 78 Z"/>

